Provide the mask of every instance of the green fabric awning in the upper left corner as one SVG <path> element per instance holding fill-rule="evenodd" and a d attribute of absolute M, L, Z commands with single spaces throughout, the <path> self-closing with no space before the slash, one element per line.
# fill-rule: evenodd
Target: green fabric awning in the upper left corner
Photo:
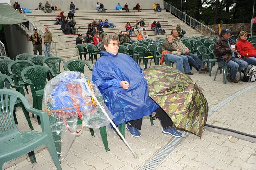
<path fill-rule="evenodd" d="M 17 10 L 7 3 L 0 3 L 0 24 L 12 25 L 27 22 L 28 19 L 23 17 Z"/>

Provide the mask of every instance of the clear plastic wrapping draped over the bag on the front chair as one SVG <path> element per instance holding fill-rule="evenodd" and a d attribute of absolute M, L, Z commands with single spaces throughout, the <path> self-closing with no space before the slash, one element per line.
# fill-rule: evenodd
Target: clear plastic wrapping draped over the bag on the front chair
<path fill-rule="evenodd" d="M 87 89 L 85 83 L 90 83 Z M 80 122 L 81 113 L 83 126 L 98 129 L 109 126 L 110 122 L 96 102 L 89 95 L 90 90 L 107 112 L 112 120 L 112 115 L 103 102 L 103 97 L 92 80 L 80 72 L 66 71 L 52 78 L 44 88 L 44 104 L 47 110 L 65 109 L 52 112 L 49 115 L 52 135 L 60 161 L 66 157 L 68 150 L 76 137 L 77 122 Z M 81 106 L 70 108 L 75 106 Z M 80 109 L 79 109 L 80 108 Z"/>

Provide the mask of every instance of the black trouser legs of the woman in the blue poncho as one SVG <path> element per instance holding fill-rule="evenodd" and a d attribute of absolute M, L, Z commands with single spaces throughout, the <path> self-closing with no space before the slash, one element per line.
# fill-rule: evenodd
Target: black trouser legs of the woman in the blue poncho
<path fill-rule="evenodd" d="M 172 120 L 171 118 L 164 112 L 164 110 L 159 107 L 158 109 L 156 109 L 156 116 L 158 117 L 158 119 L 160 120 L 160 123 L 162 125 L 163 128 L 166 128 L 168 126 L 172 126 Z M 134 126 L 137 129 L 141 129 L 141 125 L 142 125 L 142 118 L 141 119 L 137 119 L 137 120 L 132 120 L 129 121 L 129 123 Z"/>

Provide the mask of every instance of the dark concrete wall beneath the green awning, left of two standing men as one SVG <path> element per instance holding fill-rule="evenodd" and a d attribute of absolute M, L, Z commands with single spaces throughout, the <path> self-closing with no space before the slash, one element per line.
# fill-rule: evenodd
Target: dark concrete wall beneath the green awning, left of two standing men
<path fill-rule="evenodd" d="M 20 29 L 16 30 L 16 25 L 4 25 L 4 34 L 8 47 L 10 58 L 15 58 L 18 54 L 29 53 L 34 54 L 33 45 L 27 41 L 26 35 L 21 35 Z"/>

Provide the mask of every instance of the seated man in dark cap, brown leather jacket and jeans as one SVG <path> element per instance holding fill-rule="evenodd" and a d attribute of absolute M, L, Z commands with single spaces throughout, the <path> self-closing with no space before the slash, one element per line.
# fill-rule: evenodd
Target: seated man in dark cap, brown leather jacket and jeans
<path fill-rule="evenodd" d="M 230 38 L 230 31 L 231 30 L 228 28 L 223 28 L 220 37 L 214 42 L 213 48 L 218 57 L 225 59 L 225 63 L 222 63 L 222 60 L 217 59 L 218 63 L 225 64 L 231 68 L 231 70 L 228 71 L 228 81 L 238 83 L 236 74 L 247 68 L 248 63 L 243 61 L 239 51 L 237 51 L 235 47 L 232 47 L 235 45 L 235 42 Z"/>

